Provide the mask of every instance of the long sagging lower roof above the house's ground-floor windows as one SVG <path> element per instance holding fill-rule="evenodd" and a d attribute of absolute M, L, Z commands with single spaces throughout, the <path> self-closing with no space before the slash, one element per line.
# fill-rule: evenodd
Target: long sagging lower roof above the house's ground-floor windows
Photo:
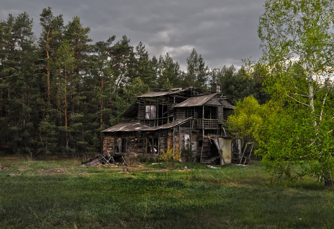
<path fill-rule="evenodd" d="M 155 131 L 160 129 L 169 129 L 178 125 L 181 125 L 188 121 L 191 118 L 179 119 L 173 122 L 161 125 L 161 126 L 148 126 L 140 122 L 129 122 L 129 123 L 120 123 L 115 126 L 112 126 L 101 132 L 118 132 L 118 131 Z"/>

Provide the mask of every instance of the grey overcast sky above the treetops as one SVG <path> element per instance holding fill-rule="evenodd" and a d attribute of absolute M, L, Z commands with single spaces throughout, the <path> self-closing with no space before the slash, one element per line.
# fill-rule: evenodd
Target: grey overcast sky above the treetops
<path fill-rule="evenodd" d="M 181 70 L 193 48 L 209 68 L 233 64 L 241 59 L 259 60 L 257 36 L 259 16 L 265 0 L 1 0 L 0 19 L 8 14 L 27 12 L 39 36 L 39 14 L 50 6 L 54 15 L 62 14 L 64 24 L 74 16 L 90 27 L 93 43 L 116 35 L 127 35 L 134 48 L 140 41 L 152 58 L 166 52 Z"/>

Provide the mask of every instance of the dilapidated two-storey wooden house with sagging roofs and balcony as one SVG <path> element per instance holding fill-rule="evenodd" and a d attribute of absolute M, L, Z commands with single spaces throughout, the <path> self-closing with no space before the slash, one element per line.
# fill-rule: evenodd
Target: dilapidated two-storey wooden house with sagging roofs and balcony
<path fill-rule="evenodd" d="M 231 162 L 237 140 L 226 119 L 234 106 L 219 83 L 212 83 L 206 94 L 194 87 L 153 89 L 137 99 L 122 114 L 123 123 L 102 131 L 103 153 L 157 158 L 168 148 L 182 152 L 191 147 L 194 161 Z"/>

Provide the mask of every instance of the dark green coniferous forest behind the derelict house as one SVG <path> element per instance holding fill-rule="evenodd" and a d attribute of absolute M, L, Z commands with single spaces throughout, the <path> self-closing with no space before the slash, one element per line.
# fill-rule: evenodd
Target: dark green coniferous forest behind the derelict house
<path fill-rule="evenodd" d="M 187 71 L 166 53 L 150 57 L 140 42 L 109 37 L 93 43 L 79 17 L 64 24 L 50 7 L 40 13 L 40 34 L 25 12 L 0 21 L 0 153 L 82 156 L 100 151 L 100 131 L 151 88 L 208 89 L 211 70 L 196 50 Z M 261 66 L 221 68 L 222 93 L 232 102 L 253 95 L 260 103 Z"/>

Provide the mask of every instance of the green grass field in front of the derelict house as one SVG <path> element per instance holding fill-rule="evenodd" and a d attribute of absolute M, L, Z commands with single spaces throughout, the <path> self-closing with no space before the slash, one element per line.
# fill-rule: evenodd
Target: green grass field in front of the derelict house
<path fill-rule="evenodd" d="M 79 163 L 0 157 L 0 228 L 334 228 L 332 189 L 272 184 L 260 162 L 167 172 Z"/>

